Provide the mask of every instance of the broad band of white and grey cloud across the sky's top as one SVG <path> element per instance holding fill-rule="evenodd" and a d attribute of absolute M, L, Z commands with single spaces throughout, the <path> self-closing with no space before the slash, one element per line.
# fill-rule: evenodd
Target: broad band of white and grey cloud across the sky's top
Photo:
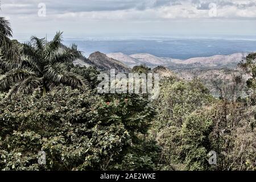
<path fill-rule="evenodd" d="M 40 1 L 2 2 L 3 13 L 33 14 Z M 256 19 L 256 0 L 87 0 L 44 1 L 51 18 L 83 17 L 85 19 L 172 19 L 211 18 L 209 3 L 216 3 L 217 18 Z"/>

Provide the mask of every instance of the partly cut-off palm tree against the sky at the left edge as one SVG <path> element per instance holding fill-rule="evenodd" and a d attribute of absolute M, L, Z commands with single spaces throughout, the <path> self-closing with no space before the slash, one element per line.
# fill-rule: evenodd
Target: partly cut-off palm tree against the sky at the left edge
<path fill-rule="evenodd" d="M 18 48 L 10 40 L 12 36 L 9 21 L 0 17 L 0 51 L 5 59 L 18 59 Z"/>

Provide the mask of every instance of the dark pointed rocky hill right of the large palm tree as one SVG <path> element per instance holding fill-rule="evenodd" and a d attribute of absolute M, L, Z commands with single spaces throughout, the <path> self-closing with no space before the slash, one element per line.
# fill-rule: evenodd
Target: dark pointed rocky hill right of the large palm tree
<path fill-rule="evenodd" d="M 118 60 L 110 58 L 101 52 L 94 52 L 89 57 L 88 60 L 95 67 L 102 71 L 109 71 L 110 69 L 116 69 L 116 72 L 126 73 L 130 71 L 127 65 L 121 63 Z"/>

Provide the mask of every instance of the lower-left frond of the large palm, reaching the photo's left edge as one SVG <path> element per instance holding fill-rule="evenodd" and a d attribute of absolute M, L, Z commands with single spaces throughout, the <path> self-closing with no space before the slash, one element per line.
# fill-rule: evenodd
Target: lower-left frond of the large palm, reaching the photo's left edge
<path fill-rule="evenodd" d="M 35 76 L 35 73 L 27 69 L 12 69 L 0 77 L 0 90 L 8 89 L 10 86 L 21 82 L 30 76 Z"/>

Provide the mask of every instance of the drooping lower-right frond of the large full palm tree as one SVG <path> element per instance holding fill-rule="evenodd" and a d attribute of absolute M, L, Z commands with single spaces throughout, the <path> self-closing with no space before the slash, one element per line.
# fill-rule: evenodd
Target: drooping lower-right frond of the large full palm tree
<path fill-rule="evenodd" d="M 48 65 L 44 75 L 48 81 L 56 84 L 64 84 L 68 86 L 78 87 L 84 85 L 84 80 L 81 76 L 68 72 L 64 64 L 56 63 Z"/>

